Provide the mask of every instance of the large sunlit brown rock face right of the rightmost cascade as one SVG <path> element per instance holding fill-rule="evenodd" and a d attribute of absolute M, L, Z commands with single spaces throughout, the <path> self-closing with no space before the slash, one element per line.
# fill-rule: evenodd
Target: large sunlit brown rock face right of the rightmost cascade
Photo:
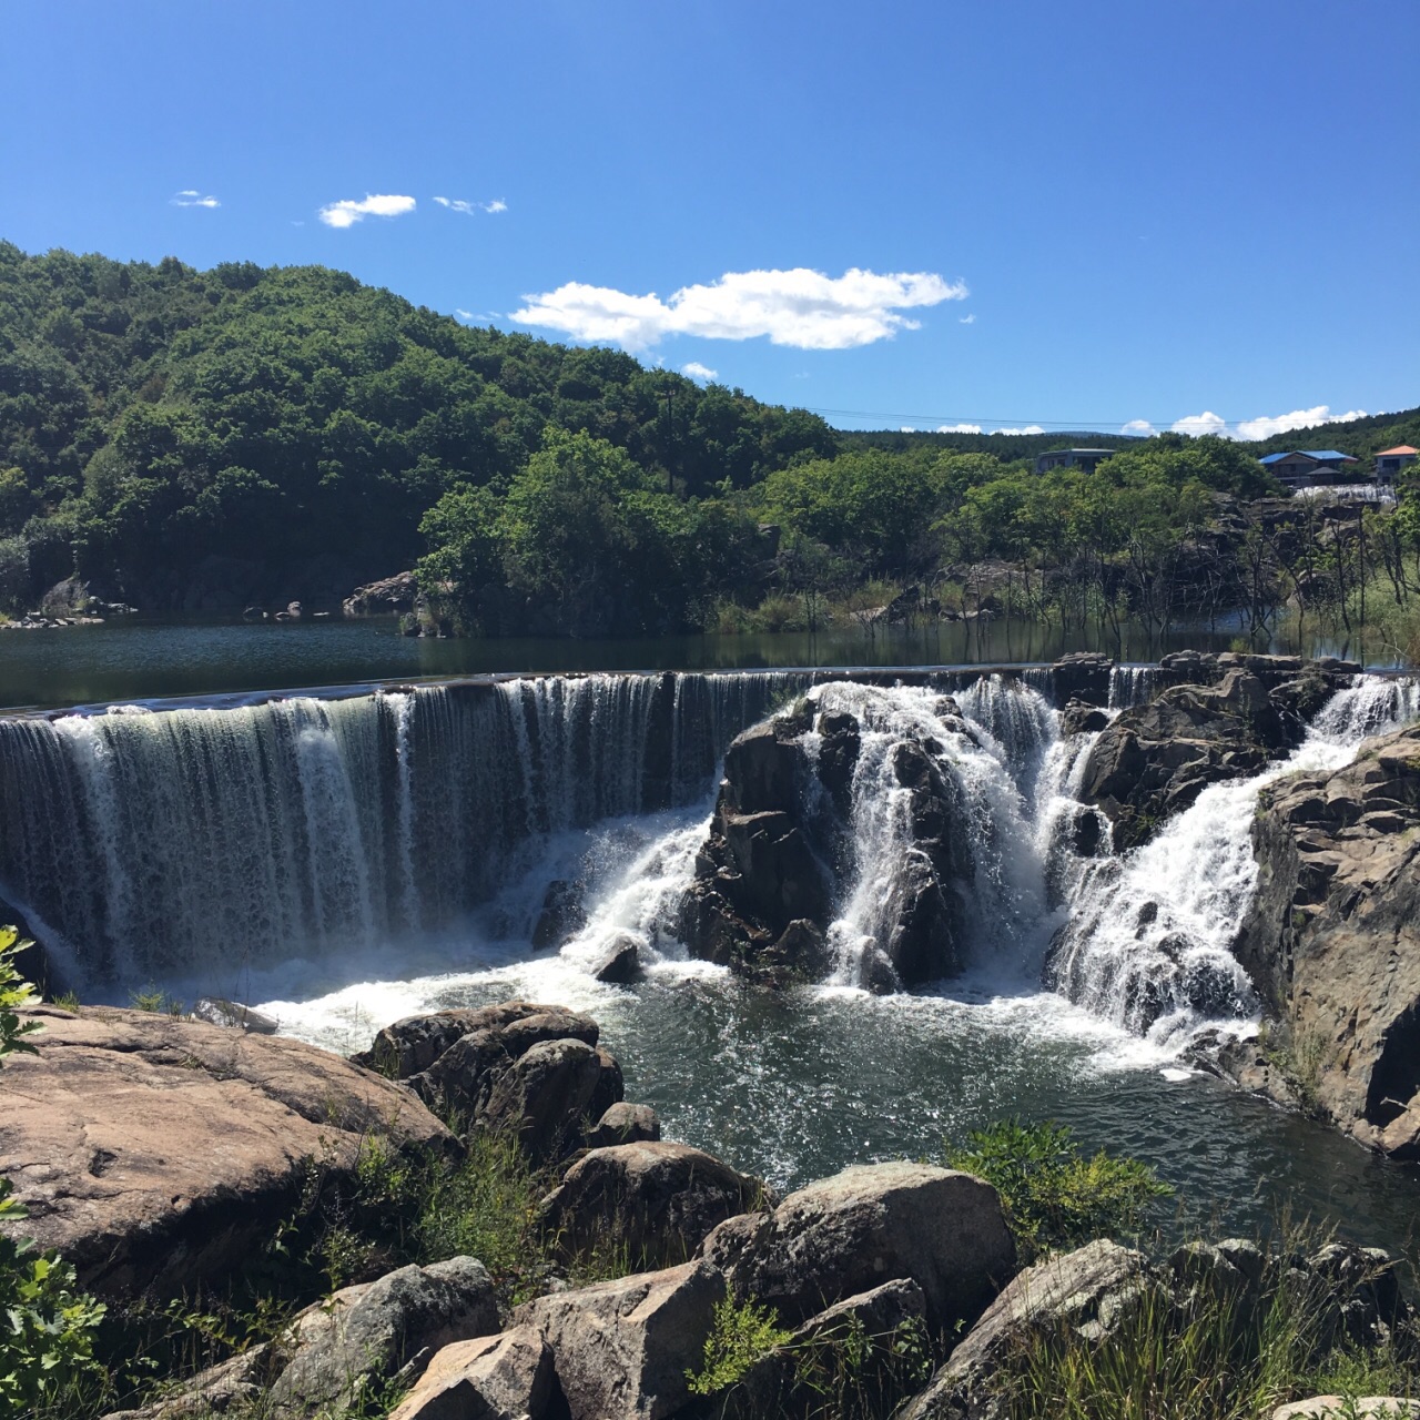
<path fill-rule="evenodd" d="M 1332 774 L 1268 785 L 1234 949 L 1282 1021 L 1274 1062 L 1291 1062 L 1291 1091 L 1301 1079 L 1316 1109 L 1397 1159 L 1420 1159 L 1416 829 L 1420 727 L 1367 741 Z"/>

